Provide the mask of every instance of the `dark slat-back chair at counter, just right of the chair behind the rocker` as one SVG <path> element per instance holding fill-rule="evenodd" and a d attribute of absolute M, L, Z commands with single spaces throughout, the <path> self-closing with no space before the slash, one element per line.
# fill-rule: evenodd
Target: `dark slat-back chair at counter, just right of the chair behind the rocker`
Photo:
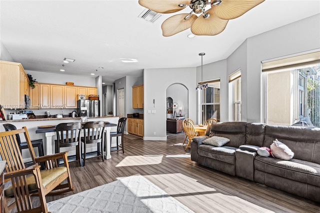
<path fill-rule="evenodd" d="M 82 124 L 80 122 L 70 122 L 70 123 L 59 123 L 55 126 L 56 140 L 55 140 L 55 153 L 60 152 L 61 147 L 75 146 L 75 159 L 79 160 L 79 165 L 81 162 L 81 129 Z"/>

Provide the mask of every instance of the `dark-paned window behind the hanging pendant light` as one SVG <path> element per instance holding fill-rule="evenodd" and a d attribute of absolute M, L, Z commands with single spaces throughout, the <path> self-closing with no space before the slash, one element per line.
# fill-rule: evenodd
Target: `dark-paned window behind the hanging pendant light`
<path fill-rule="evenodd" d="M 198 90 L 201 108 L 201 123 L 208 118 L 220 120 L 220 80 L 206 81 L 208 87 Z"/>

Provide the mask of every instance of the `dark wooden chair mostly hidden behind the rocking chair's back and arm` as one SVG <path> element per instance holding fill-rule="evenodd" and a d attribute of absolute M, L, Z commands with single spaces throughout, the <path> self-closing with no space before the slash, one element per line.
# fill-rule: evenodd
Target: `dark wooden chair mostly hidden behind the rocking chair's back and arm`
<path fill-rule="evenodd" d="M 4 129 L 6 131 L 10 131 L 10 130 L 15 130 L 16 129 L 15 125 L 12 125 L 11 123 L 4 123 L 2 125 L 3 125 L 3 127 L 4 127 Z M 28 148 L 26 142 L 21 142 L 19 134 L 16 134 L 15 136 L 16 136 L 16 141 L 18 143 L 20 152 L 22 151 L 22 149 Z M 39 156 L 43 156 L 44 155 L 42 139 L 31 140 L 31 144 L 32 144 L 32 147 L 37 147 Z M 28 166 L 30 166 L 32 164 L 33 164 L 32 161 L 31 162 L 26 162 L 25 166 L 28 167 Z M 44 168 L 44 166 L 41 165 L 41 169 L 43 169 L 43 168 Z"/>

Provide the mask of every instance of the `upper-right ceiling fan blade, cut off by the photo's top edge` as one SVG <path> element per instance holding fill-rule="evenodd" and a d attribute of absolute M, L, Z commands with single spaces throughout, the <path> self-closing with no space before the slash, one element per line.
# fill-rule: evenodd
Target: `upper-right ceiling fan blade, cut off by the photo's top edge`
<path fill-rule="evenodd" d="M 264 0 L 221 0 L 220 5 L 211 5 L 216 16 L 222 19 L 233 19 L 243 15 Z"/>

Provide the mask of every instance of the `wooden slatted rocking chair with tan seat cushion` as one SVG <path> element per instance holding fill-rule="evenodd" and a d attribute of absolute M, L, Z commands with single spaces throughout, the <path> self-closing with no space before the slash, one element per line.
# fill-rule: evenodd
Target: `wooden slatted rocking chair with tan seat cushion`
<path fill-rule="evenodd" d="M 23 133 L 32 161 L 35 165 L 25 168 L 15 134 Z M 4 190 L 4 211 L 16 207 L 18 212 L 47 212 L 45 195 L 60 194 L 74 190 L 70 178 L 67 151 L 35 158 L 31 140 L 25 126 L 21 129 L 0 132 L 0 155 L 6 160 L 4 181 L 11 185 Z M 62 158 L 64 166 L 58 166 Z M 38 163 L 43 162 L 45 169 L 40 170 Z M 67 180 L 66 183 L 62 182 Z M 32 207 L 30 195 L 38 195 L 39 207 Z M 15 202 L 7 205 L 9 197 Z"/>

